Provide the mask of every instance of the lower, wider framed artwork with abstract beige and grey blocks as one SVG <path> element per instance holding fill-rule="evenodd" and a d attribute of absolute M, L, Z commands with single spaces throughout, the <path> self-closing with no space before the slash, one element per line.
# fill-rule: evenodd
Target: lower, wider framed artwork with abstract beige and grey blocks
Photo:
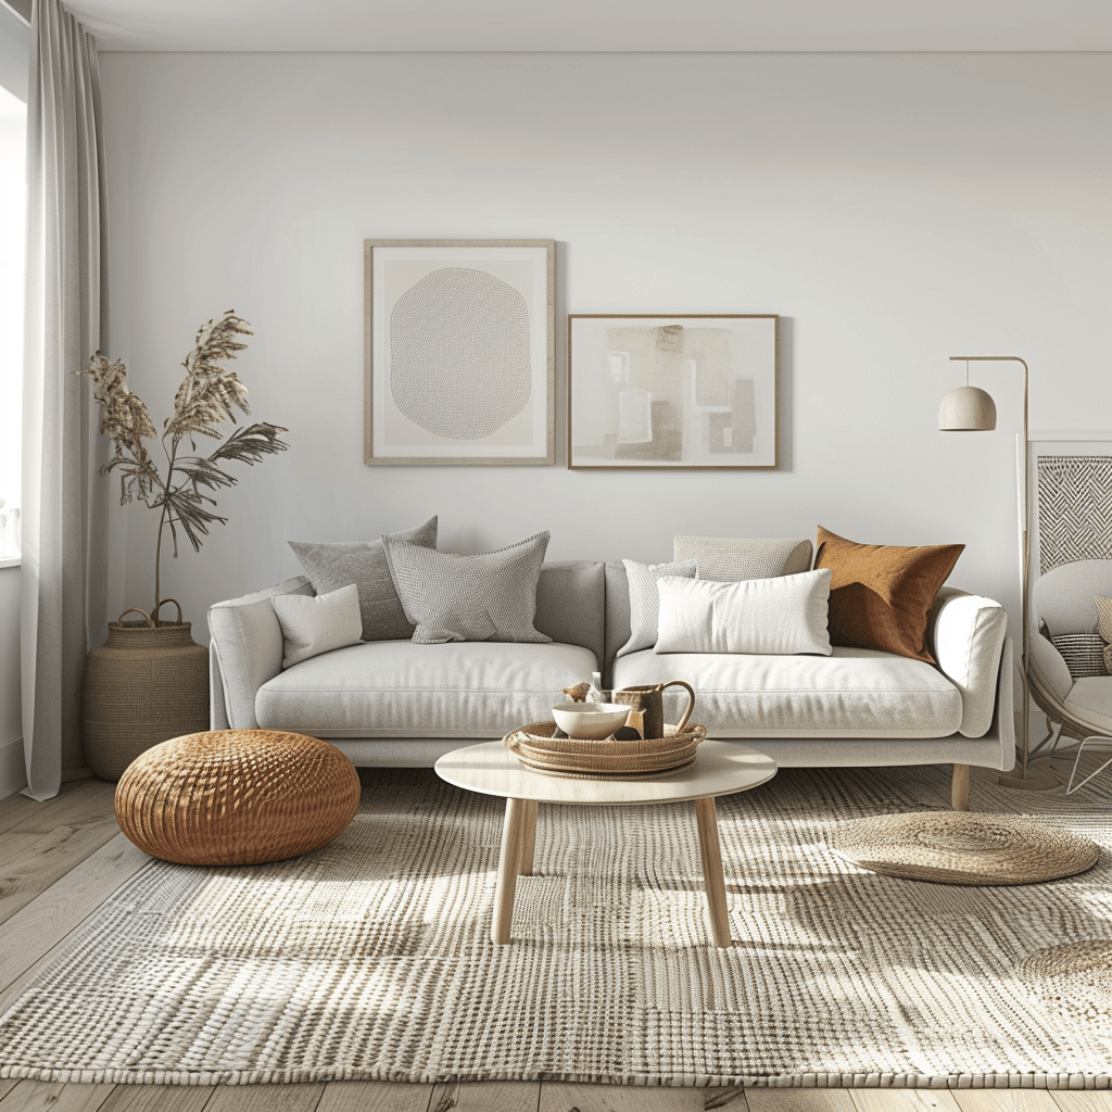
<path fill-rule="evenodd" d="M 778 324 L 569 316 L 568 467 L 776 467 Z"/>

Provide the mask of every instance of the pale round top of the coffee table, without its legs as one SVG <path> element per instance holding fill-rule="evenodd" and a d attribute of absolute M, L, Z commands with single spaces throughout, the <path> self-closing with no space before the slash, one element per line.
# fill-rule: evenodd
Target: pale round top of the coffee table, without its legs
<path fill-rule="evenodd" d="M 776 762 L 739 742 L 703 742 L 695 764 L 661 780 L 566 780 L 526 768 L 502 742 L 481 742 L 436 762 L 441 780 L 483 795 L 534 803 L 636 805 L 732 795 L 776 775 Z"/>

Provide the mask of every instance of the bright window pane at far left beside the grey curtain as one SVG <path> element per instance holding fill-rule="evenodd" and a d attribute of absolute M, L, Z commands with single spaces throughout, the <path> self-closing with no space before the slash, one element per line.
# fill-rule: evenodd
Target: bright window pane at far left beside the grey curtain
<path fill-rule="evenodd" d="M 19 556 L 27 106 L 0 88 L 0 560 Z"/>

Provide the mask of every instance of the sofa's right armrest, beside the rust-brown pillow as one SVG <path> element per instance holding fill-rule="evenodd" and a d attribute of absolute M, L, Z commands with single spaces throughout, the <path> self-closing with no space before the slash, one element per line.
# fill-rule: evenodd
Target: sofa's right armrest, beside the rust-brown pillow
<path fill-rule="evenodd" d="M 1000 603 L 943 587 L 927 619 L 927 643 L 939 668 L 962 696 L 959 733 L 983 737 L 992 725 L 996 678 L 1007 633 L 1007 612 Z"/>

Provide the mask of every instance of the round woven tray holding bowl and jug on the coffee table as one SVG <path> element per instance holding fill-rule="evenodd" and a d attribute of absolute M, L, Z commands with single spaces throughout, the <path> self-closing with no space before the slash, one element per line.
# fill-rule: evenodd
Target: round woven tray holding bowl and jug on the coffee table
<path fill-rule="evenodd" d="M 536 722 L 510 731 L 503 744 L 526 768 L 576 780 L 646 780 L 667 776 L 695 763 L 706 727 L 688 724 L 682 733 L 618 742 L 554 737 L 556 723 Z"/>

